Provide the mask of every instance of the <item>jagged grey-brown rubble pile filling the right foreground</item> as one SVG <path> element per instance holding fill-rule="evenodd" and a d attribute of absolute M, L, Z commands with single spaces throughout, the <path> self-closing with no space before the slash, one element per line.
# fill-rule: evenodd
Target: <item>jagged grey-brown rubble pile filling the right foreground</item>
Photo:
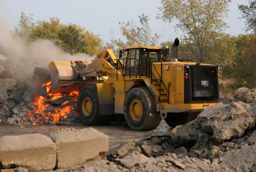
<path fill-rule="evenodd" d="M 256 88 L 240 88 L 230 103 L 205 107 L 197 119 L 66 172 L 256 172 Z"/>

